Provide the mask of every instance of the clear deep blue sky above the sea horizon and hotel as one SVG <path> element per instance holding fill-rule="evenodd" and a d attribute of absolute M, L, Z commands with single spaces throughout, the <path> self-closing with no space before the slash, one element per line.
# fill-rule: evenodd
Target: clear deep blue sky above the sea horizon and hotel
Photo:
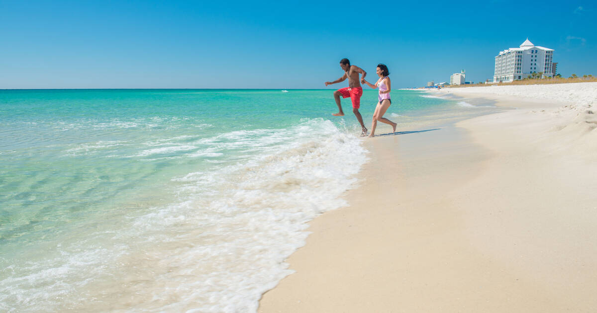
<path fill-rule="evenodd" d="M 393 88 L 479 82 L 527 37 L 562 76 L 597 75 L 596 20 L 574 0 L 0 0 L 0 89 L 325 88 L 344 57 Z"/>

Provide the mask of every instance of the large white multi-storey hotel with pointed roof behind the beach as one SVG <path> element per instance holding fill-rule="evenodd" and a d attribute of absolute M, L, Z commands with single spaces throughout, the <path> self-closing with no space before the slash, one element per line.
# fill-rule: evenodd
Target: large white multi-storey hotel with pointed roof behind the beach
<path fill-rule="evenodd" d="M 532 73 L 552 77 L 553 49 L 533 45 L 527 38 L 519 48 L 501 51 L 496 57 L 494 82 L 512 82 L 528 78 Z"/>

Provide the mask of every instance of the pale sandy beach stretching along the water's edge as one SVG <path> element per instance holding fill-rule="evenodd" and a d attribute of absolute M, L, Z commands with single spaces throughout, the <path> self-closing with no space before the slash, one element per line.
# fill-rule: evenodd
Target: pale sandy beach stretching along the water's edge
<path fill-rule="evenodd" d="M 434 95 L 517 109 L 367 140 L 259 312 L 595 311 L 597 83 Z"/>

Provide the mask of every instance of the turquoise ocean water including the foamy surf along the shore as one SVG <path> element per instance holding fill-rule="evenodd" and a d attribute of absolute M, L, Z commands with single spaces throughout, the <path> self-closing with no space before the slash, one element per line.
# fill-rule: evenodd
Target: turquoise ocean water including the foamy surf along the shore
<path fill-rule="evenodd" d="M 392 101 L 405 132 L 497 110 Z M 376 103 L 366 90 L 368 128 Z M 343 107 L 331 90 L 0 90 L 0 311 L 255 312 L 306 223 L 358 186 L 376 138 Z"/>

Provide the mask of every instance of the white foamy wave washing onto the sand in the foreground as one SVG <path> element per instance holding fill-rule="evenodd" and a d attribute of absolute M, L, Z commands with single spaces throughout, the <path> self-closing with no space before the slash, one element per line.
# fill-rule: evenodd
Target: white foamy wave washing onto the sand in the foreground
<path fill-rule="evenodd" d="M 346 205 L 367 160 L 359 138 L 324 119 L 181 139 L 136 157 L 238 157 L 172 178 L 171 203 L 105 216 L 48 244 L 45 259 L 4 269 L 0 311 L 256 312 L 292 272 L 284 260 L 307 222 Z"/>

